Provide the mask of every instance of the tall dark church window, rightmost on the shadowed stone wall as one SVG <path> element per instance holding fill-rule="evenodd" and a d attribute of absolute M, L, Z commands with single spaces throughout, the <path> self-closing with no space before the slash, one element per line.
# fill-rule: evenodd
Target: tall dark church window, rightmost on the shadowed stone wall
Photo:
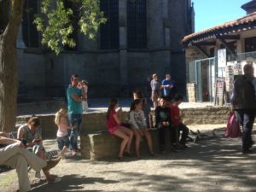
<path fill-rule="evenodd" d="M 127 1 L 127 44 L 131 49 L 147 48 L 147 1 Z"/>

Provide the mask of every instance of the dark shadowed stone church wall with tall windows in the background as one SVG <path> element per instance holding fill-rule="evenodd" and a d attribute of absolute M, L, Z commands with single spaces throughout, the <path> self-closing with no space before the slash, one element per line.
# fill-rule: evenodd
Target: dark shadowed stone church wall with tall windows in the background
<path fill-rule="evenodd" d="M 184 92 L 186 65 L 180 41 L 194 32 L 191 0 L 102 0 L 101 9 L 108 22 L 96 40 L 76 32 L 77 46 L 55 55 L 40 44 L 32 26 L 39 1 L 26 0 L 17 42 L 21 96 L 64 96 L 74 73 L 89 82 L 89 96 L 129 96 L 133 89 L 143 90 L 152 73 L 160 79 L 171 73 Z"/>

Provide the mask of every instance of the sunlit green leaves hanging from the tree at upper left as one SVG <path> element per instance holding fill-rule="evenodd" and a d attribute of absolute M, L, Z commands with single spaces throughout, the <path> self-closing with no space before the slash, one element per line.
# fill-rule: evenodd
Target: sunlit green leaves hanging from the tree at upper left
<path fill-rule="evenodd" d="M 73 8 L 65 6 L 72 3 Z M 74 47 L 73 11 L 78 13 L 79 32 L 93 39 L 96 37 L 98 27 L 106 22 L 99 8 L 99 0 L 43 0 L 41 14 L 35 16 L 34 23 L 38 31 L 42 32 L 42 44 L 59 54 L 63 46 Z"/>

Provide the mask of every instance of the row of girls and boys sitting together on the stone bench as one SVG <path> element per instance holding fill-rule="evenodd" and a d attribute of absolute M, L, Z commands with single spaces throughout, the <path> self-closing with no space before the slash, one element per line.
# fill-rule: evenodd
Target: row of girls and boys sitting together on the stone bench
<path fill-rule="evenodd" d="M 131 142 L 135 136 L 135 148 L 137 158 L 140 158 L 140 143 L 142 137 L 146 138 L 149 154 L 155 156 L 152 138 L 149 133 L 150 106 L 148 105 L 140 90 L 133 92 L 133 101 L 129 112 L 129 124 L 121 122 L 122 110 L 119 108 L 117 99 L 113 98 L 109 102 L 106 125 L 110 134 L 122 138 L 118 159 L 123 160 L 124 155 L 131 156 Z M 176 94 L 171 96 L 161 96 L 160 106 L 154 110 L 155 127 L 159 131 L 160 153 L 166 153 L 166 131 L 170 132 L 170 143 L 172 151 L 187 148 L 186 139 L 189 128 L 182 123 L 178 105 L 183 101 L 183 96 Z M 180 132 L 182 135 L 180 137 Z"/>

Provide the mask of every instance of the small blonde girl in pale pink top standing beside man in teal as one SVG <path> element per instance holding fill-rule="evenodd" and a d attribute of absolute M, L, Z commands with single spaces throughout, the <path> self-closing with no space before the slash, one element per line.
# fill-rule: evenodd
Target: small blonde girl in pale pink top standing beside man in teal
<path fill-rule="evenodd" d="M 57 113 L 55 113 L 55 124 L 58 126 L 58 148 L 61 150 L 61 157 L 65 158 L 65 152 L 67 151 L 67 148 L 70 144 L 68 130 L 72 128 L 68 123 L 67 109 L 61 108 Z"/>

